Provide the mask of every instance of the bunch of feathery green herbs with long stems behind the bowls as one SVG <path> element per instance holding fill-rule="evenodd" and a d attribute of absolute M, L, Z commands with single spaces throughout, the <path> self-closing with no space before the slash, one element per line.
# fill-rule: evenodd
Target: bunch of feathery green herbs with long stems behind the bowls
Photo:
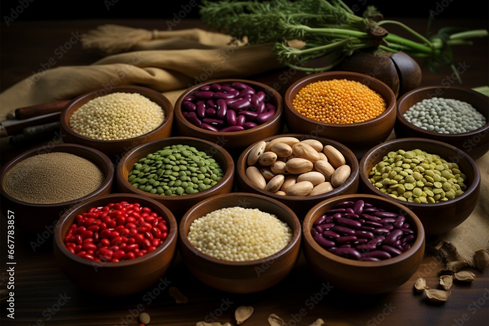
<path fill-rule="evenodd" d="M 272 43 L 280 62 L 308 73 L 330 70 L 355 51 L 373 48 L 423 57 L 435 71 L 440 64 L 448 65 L 458 76 L 451 46 L 470 45 L 469 39 L 488 36 L 487 30 L 448 27 L 428 39 L 401 22 L 383 20 L 373 6 L 367 7 L 362 17 L 357 16 L 341 0 L 203 0 L 200 17 L 235 41 Z M 386 25 L 400 26 L 412 38 L 388 33 Z M 305 45 L 291 46 L 291 40 Z M 328 64 L 319 68 L 304 65 L 316 58 L 324 58 Z"/>

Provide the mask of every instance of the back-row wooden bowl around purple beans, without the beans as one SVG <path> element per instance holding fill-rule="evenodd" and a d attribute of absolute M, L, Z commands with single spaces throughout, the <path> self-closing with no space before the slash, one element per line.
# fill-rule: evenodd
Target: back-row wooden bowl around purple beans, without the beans
<path fill-rule="evenodd" d="M 229 84 L 233 82 L 241 82 L 255 89 L 256 92 L 262 90 L 269 97 L 268 103 L 271 103 L 277 109 L 275 115 L 270 118 L 266 123 L 259 125 L 258 127 L 242 130 L 242 131 L 231 131 L 231 132 L 218 132 L 205 130 L 200 127 L 196 127 L 190 121 L 188 121 L 182 114 L 182 103 L 183 100 L 197 92 L 200 87 L 211 85 L 214 83 L 218 84 Z M 175 123 L 177 126 L 178 134 L 180 136 L 196 137 L 200 139 L 208 140 L 214 144 L 223 147 L 226 150 L 245 148 L 250 144 L 280 133 L 283 129 L 282 121 L 282 111 L 283 111 L 283 100 L 280 94 L 273 88 L 251 80 L 243 79 L 218 79 L 210 82 L 202 83 L 193 87 L 188 88 L 183 94 L 180 95 L 177 102 L 175 103 Z"/>

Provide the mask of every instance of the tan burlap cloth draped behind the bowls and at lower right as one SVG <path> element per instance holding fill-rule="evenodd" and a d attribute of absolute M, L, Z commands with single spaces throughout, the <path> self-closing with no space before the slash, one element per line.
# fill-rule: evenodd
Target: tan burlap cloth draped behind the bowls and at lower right
<path fill-rule="evenodd" d="M 104 25 L 82 39 L 106 55 L 88 66 L 60 66 L 30 76 L 0 94 L 3 120 L 13 109 L 72 99 L 110 85 L 140 85 L 175 103 L 191 85 L 210 79 L 244 78 L 274 68 L 270 45 L 230 45 L 231 38 L 201 29 L 147 31 Z M 477 159 L 481 196 L 467 220 L 427 243 L 427 252 L 445 259 L 445 269 L 475 267 L 474 253 L 489 250 L 489 152 Z M 484 267 L 484 266 L 483 266 Z"/>

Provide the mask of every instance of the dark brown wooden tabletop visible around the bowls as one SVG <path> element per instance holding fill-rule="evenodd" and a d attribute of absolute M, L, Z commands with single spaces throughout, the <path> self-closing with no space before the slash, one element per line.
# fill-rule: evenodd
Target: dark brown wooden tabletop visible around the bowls
<path fill-rule="evenodd" d="M 467 9 L 472 10 L 472 9 Z M 475 9 L 474 9 L 475 10 Z M 442 15 L 443 16 L 443 15 Z M 436 30 L 446 25 L 488 28 L 488 20 L 448 21 L 438 16 L 433 22 Z M 421 33 L 425 20 L 402 19 Z M 57 49 L 65 44 L 71 33 L 82 34 L 104 23 L 118 23 L 146 29 L 166 29 L 166 21 L 150 20 L 86 20 L 56 22 L 14 21 L 0 30 L 0 90 L 14 85 L 54 58 L 55 64 L 88 65 L 97 59 L 84 53 L 80 43 L 60 57 Z M 178 28 L 199 26 L 199 22 L 183 21 Z M 468 66 L 462 74 L 464 86 L 480 87 L 489 84 L 488 40 L 474 40 L 473 46 L 454 49 L 455 65 Z M 51 61 L 52 62 L 52 61 Z M 440 74 L 423 69 L 422 86 L 456 85 L 451 70 Z M 299 73 L 290 75 L 288 69 L 271 71 L 252 78 L 268 84 L 279 83 L 283 94 Z M 284 82 L 286 81 L 286 82 Z M 451 83 L 453 81 L 453 84 Z M 20 150 L 19 150 L 20 151 Z M 17 152 L 2 150 L 5 162 Z M 28 187 L 29 185 L 22 185 Z M 8 207 L 2 207 L 7 210 Z M 15 213 L 15 212 L 14 212 Z M 31 212 L 32 218 L 37 212 Z M 15 218 L 29 216 L 15 215 Z M 195 325 L 199 321 L 234 321 L 234 310 L 251 305 L 254 313 L 244 325 L 268 325 L 269 314 L 277 314 L 286 325 L 310 325 L 322 318 L 326 325 L 488 325 L 489 271 L 474 270 L 476 279 L 469 284 L 456 283 L 445 304 L 428 302 L 413 291 L 418 277 L 424 277 L 432 288 L 438 288 L 438 272 L 444 266 L 441 257 L 426 253 L 415 275 L 398 289 L 375 296 L 354 295 L 331 288 L 316 277 L 301 255 L 292 273 L 283 282 L 257 294 L 234 295 L 214 290 L 196 280 L 185 269 L 179 257 L 162 282 L 140 293 L 119 298 L 94 296 L 75 287 L 56 265 L 52 239 L 43 234 L 28 234 L 15 229 L 15 265 L 7 265 L 7 222 L 0 219 L 0 277 L 1 288 L 13 285 L 15 319 L 7 317 L 8 304 L 1 303 L 2 325 L 137 325 L 133 315 L 144 311 L 151 315 L 150 325 Z M 52 226 L 46 226 L 44 236 Z M 33 246 L 33 244 L 39 245 Z M 15 266 L 9 279 L 7 269 Z M 165 287 L 166 286 L 166 287 Z M 188 297 L 188 303 L 176 304 L 168 288 L 176 286 Z M 328 287 L 330 286 L 330 287 Z M 163 288 L 163 290 L 161 290 Z"/>

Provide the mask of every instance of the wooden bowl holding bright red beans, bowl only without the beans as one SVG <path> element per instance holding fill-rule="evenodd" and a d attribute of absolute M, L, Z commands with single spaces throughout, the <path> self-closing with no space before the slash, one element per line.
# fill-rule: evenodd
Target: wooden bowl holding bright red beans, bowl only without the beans
<path fill-rule="evenodd" d="M 120 201 L 138 202 L 163 217 L 169 228 L 164 242 L 154 251 L 128 261 L 89 261 L 72 254 L 64 238 L 74 218 L 91 207 L 103 207 Z M 79 203 L 61 217 L 54 232 L 54 256 L 67 278 L 80 288 L 97 295 L 129 295 L 157 283 L 168 271 L 176 255 L 177 227 L 172 212 L 156 200 L 133 194 L 100 196 Z"/>

